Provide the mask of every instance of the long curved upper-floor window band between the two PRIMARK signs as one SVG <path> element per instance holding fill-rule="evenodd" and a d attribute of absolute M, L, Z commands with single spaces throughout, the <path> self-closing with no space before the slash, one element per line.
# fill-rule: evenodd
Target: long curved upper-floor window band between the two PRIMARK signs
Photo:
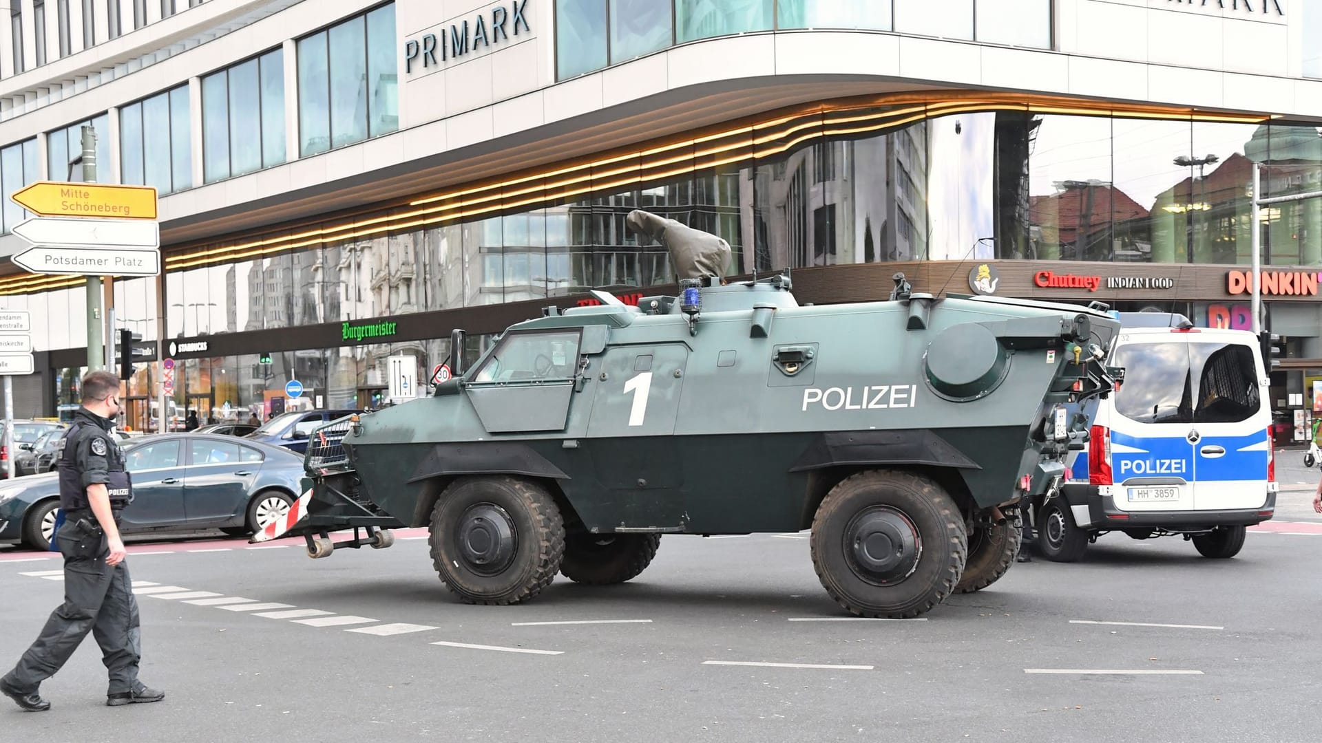
<path fill-rule="evenodd" d="M 895 30 L 1051 49 L 1051 0 L 555 0 L 555 78 L 676 44 L 773 29 Z"/>

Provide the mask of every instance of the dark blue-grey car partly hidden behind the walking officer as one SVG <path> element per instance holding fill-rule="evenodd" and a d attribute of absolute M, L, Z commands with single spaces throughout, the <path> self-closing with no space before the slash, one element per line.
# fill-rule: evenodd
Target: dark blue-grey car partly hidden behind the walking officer
<path fill-rule="evenodd" d="M 303 493 L 303 457 L 234 436 L 163 434 L 122 444 L 134 479 L 124 535 L 219 529 L 247 535 Z M 0 543 L 44 550 L 59 506 L 59 475 L 46 472 L 0 485 Z"/>

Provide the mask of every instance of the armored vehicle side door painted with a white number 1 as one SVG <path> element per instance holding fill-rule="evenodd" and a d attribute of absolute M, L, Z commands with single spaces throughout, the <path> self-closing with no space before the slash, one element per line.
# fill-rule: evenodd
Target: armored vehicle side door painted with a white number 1
<path fill-rule="evenodd" d="M 587 443 L 598 485 L 620 506 L 611 509 L 612 528 L 676 531 L 683 525 L 674 424 L 687 360 L 683 344 L 624 345 L 592 365 Z"/>

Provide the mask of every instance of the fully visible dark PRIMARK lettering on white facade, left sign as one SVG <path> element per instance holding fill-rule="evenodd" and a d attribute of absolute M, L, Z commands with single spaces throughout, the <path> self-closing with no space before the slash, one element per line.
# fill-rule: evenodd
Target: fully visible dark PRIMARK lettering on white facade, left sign
<path fill-rule="evenodd" d="M 405 74 L 438 71 L 447 62 L 465 61 L 531 37 L 527 0 L 512 0 L 405 40 Z"/>

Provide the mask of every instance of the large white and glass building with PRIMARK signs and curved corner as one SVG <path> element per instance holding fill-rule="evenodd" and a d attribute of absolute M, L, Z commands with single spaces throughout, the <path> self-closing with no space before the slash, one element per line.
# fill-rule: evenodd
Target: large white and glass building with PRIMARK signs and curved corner
<path fill-rule="evenodd" d="M 1265 196 L 1322 189 L 1315 3 L 5 5 L 0 190 L 79 180 L 90 124 L 97 180 L 160 194 L 163 275 L 112 288 L 160 342 L 134 427 L 373 407 L 386 358 L 426 377 L 451 328 L 476 352 L 587 288 L 661 291 L 632 209 L 722 235 L 734 275 L 789 270 L 804 301 L 884 297 L 902 268 L 1232 327 L 1256 229 L 1273 403 L 1322 406 L 1322 201 L 1251 219 L 1255 163 Z M 7 201 L 0 233 L 25 217 Z M 52 415 L 86 364 L 83 282 L 4 263 L 40 352 L 17 412 Z"/>

